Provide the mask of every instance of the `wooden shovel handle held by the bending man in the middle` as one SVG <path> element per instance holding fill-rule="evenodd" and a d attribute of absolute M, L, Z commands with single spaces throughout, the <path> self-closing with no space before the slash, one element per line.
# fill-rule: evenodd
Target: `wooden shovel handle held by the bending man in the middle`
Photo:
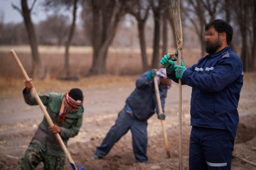
<path fill-rule="evenodd" d="M 156 74 L 160 74 L 160 72 L 159 73 L 156 72 Z M 157 100 L 157 104 L 159 106 L 159 115 L 160 115 L 160 114 L 163 114 L 163 109 L 161 107 L 159 86 L 158 86 L 158 83 L 157 83 L 156 76 L 153 79 L 154 79 L 154 86 L 155 86 L 155 91 L 156 91 L 156 100 Z M 163 120 L 161 120 L 161 126 L 162 126 L 162 129 L 163 129 L 164 142 L 165 142 L 165 145 L 166 145 L 166 154 L 167 154 L 167 157 L 170 158 L 171 156 L 170 156 L 170 152 L 169 152 L 169 145 L 168 145 L 166 130 L 164 129 L 164 121 Z"/>

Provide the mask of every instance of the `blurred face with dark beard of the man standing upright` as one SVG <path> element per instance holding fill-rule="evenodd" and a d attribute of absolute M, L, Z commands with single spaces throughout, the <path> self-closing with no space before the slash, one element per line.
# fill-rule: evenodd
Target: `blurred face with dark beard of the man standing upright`
<path fill-rule="evenodd" d="M 223 33 L 218 33 L 213 26 L 206 30 L 205 45 L 206 52 L 213 55 L 222 46 Z"/>

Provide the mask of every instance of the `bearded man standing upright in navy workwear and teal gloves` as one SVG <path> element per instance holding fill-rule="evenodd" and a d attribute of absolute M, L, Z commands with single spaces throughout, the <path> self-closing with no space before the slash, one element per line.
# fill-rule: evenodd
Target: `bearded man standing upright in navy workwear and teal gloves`
<path fill-rule="evenodd" d="M 233 28 L 217 19 L 206 25 L 208 55 L 186 68 L 165 55 L 167 77 L 192 87 L 189 169 L 231 169 L 238 128 L 238 101 L 243 83 L 242 62 L 231 50 Z"/>

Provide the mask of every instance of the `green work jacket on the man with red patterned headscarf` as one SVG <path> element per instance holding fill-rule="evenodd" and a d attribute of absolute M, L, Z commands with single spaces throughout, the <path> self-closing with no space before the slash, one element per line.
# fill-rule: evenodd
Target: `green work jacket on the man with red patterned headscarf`
<path fill-rule="evenodd" d="M 56 124 L 64 94 L 48 93 L 39 94 L 38 96 L 41 98 L 41 101 L 46 106 L 46 110 L 48 111 L 50 118 L 53 120 L 53 123 Z M 23 97 L 28 105 L 38 105 L 36 98 L 34 98 L 31 91 L 26 93 L 26 89 L 24 89 Z M 62 118 L 60 118 L 58 124 L 61 130 L 60 137 L 62 138 L 66 147 L 68 147 L 69 138 L 78 135 L 78 132 L 82 126 L 83 111 L 84 108 L 83 106 L 81 106 L 80 108 L 78 108 L 78 111 L 66 114 L 63 124 Z M 43 114 L 43 112 L 41 112 L 40 114 Z M 38 126 L 38 129 L 36 130 L 36 133 L 31 140 L 31 144 L 39 145 L 41 149 L 46 152 L 47 155 L 65 156 L 65 153 L 63 152 L 63 149 L 61 149 L 58 140 L 48 127 L 49 124 L 46 120 L 46 117 L 43 116 L 43 120 Z"/>

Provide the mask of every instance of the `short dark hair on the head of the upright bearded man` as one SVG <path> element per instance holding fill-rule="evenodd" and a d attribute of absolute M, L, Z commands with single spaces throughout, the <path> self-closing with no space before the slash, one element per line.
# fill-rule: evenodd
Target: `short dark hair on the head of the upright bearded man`
<path fill-rule="evenodd" d="M 216 19 L 215 21 L 212 21 L 206 25 L 206 30 L 208 30 L 211 26 L 214 26 L 215 30 L 218 33 L 225 32 L 227 35 L 227 43 L 230 45 L 230 42 L 233 37 L 233 28 L 228 24 L 226 21 L 222 19 Z"/>

